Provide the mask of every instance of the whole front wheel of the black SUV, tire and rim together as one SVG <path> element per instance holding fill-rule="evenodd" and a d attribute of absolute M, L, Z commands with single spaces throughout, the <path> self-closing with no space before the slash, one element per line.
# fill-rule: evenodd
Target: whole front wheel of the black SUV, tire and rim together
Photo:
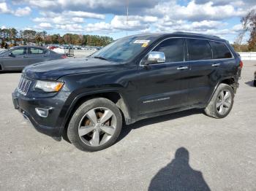
<path fill-rule="evenodd" d="M 121 128 L 118 107 L 106 98 L 93 98 L 75 111 L 67 128 L 67 137 L 78 149 L 95 152 L 114 144 Z"/>

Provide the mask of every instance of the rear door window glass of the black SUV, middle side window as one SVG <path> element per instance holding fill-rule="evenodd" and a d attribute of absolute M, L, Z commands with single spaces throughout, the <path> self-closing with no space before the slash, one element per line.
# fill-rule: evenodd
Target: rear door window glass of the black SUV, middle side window
<path fill-rule="evenodd" d="M 187 39 L 189 61 L 208 60 L 212 58 L 211 46 L 207 40 Z"/>

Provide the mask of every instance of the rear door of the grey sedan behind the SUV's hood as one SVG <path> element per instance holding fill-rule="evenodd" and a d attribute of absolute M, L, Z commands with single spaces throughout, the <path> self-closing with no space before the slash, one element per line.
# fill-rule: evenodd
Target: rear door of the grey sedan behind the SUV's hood
<path fill-rule="evenodd" d="M 28 58 L 29 65 L 33 63 L 39 63 L 43 61 L 48 61 L 48 50 L 39 47 L 29 47 L 28 48 Z"/>

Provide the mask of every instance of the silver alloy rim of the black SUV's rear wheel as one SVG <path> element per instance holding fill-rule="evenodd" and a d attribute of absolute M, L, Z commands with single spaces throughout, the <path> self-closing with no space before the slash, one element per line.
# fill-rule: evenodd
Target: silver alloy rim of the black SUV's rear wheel
<path fill-rule="evenodd" d="M 231 101 L 232 95 L 230 90 L 222 90 L 217 98 L 217 112 L 222 115 L 226 114 L 230 109 Z"/>

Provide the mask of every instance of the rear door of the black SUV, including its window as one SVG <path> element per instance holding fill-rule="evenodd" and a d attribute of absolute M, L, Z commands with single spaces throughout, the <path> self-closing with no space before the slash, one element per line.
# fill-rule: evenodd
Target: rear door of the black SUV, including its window
<path fill-rule="evenodd" d="M 206 39 L 187 39 L 189 74 L 189 104 L 206 104 L 217 85 L 222 63 L 213 59 L 211 44 Z"/>

